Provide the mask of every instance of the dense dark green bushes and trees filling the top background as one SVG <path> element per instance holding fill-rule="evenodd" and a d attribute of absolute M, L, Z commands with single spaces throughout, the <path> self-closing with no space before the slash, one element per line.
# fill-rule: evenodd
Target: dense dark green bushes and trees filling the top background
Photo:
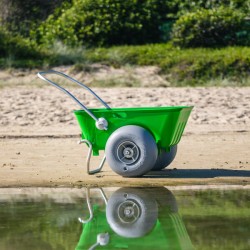
<path fill-rule="evenodd" d="M 22 37 L 46 48 L 58 41 L 100 47 L 166 42 L 172 31 L 174 44 L 183 47 L 250 43 L 244 20 L 250 0 L 0 0 L 0 7 L 8 30 L 0 34 L 2 51 L 6 41 L 18 47 Z"/>

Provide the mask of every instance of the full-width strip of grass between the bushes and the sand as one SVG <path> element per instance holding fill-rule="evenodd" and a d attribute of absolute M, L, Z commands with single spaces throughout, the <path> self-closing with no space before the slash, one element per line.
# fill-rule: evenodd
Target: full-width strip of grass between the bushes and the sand
<path fill-rule="evenodd" d="M 250 86 L 250 47 L 179 49 L 170 44 L 151 44 L 73 49 L 57 43 L 36 60 L 18 60 L 14 56 L 0 58 L 1 68 L 73 65 L 74 71 L 87 71 L 92 63 L 117 68 L 155 65 L 160 68 L 159 74 L 163 74 L 172 86 Z M 112 81 L 94 85 L 126 86 L 126 81 Z M 132 82 L 128 86 L 138 86 Z"/>

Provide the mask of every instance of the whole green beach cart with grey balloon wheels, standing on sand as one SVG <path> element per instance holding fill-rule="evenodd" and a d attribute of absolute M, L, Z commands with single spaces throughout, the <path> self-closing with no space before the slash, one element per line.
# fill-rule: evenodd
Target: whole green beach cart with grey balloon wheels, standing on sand
<path fill-rule="evenodd" d="M 68 90 L 45 75 L 64 77 L 92 94 L 104 108 L 88 109 Z M 105 160 L 117 174 L 136 177 L 161 170 L 175 158 L 192 106 L 110 108 L 83 83 L 58 71 L 39 72 L 38 77 L 63 91 L 82 109 L 74 111 L 82 132 L 80 143 L 89 147 L 87 172 L 101 171 Z M 104 157 L 96 169 L 90 170 L 91 155 Z"/>

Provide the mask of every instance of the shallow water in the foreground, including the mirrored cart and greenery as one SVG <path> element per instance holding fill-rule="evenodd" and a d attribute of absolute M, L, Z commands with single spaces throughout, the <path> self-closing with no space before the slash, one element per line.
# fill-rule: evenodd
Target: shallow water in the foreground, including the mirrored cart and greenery
<path fill-rule="evenodd" d="M 250 249 L 249 191 L 0 189 L 0 249 Z"/>

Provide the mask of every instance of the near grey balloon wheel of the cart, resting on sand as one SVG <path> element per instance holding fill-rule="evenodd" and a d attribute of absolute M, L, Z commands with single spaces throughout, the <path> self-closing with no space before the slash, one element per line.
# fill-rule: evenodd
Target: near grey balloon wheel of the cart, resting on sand
<path fill-rule="evenodd" d="M 140 176 L 154 166 L 157 146 L 146 129 L 128 125 L 111 134 L 105 154 L 109 166 L 117 174 L 127 177 Z"/>

